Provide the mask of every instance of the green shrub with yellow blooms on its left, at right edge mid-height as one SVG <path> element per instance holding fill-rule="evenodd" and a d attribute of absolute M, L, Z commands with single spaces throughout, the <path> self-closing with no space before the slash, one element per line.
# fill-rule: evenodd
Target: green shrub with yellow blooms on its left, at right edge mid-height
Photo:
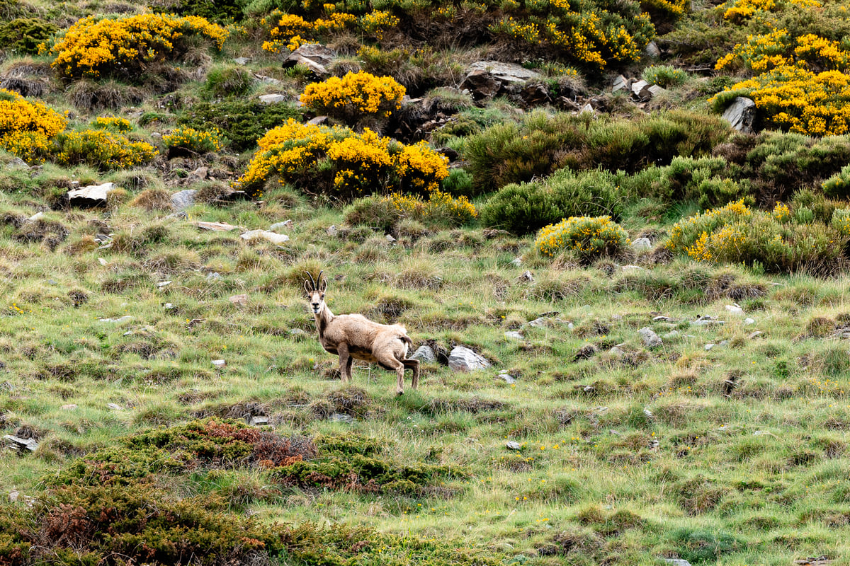
<path fill-rule="evenodd" d="M 846 263 L 847 237 L 836 228 L 786 220 L 785 210 L 751 210 L 738 201 L 677 222 L 666 247 L 696 261 L 743 263 L 767 272 L 826 275 Z"/>

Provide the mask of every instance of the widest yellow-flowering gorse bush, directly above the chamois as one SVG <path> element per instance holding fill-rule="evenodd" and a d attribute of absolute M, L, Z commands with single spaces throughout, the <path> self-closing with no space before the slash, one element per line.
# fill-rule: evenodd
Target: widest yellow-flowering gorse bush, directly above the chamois
<path fill-rule="evenodd" d="M 431 193 L 448 175 L 445 157 L 427 144 L 405 146 L 368 128 L 355 133 L 343 126 L 314 126 L 287 120 L 258 140 L 236 188 L 257 195 L 266 183 L 306 182 L 308 192 L 327 192 L 342 199 L 405 191 Z"/>

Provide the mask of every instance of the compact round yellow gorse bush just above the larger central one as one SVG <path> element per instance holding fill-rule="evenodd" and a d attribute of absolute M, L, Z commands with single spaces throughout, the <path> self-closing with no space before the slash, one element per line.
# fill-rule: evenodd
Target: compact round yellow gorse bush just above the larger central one
<path fill-rule="evenodd" d="M 318 114 L 354 124 L 365 116 L 388 117 L 401 108 L 404 96 L 405 87 L 394 78 L 360 71 L 314 82 L 304 89 L 300 100 Z"/>

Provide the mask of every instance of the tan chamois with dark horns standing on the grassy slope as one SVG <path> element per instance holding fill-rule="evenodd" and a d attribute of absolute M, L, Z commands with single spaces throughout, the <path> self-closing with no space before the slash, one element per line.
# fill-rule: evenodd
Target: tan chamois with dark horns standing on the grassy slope
<path fill-rule="evenodd" d="M 403 394 L 405 387 L 405 368 L 413 371 L 411 387 L 419 387 L 419 361 L 407 360 L 407 348 L 413 340 L 407 335 L 405 327 L 399 324 L 379 324 L 363 315 L 334 316 L 325 304 L 327 280 L 319 272 L 319 282 L 307 272 L 309 280 L 304 280 L 304 292 L 309 300 L 310 310 L 319 330 L 319 342 L 327 352 L 339 356 L 339 373 L 343 382 L 351 380 L 351 364 L 354 359 L 374 361 L 386 370 L 394 371 L 399 378 L 395 392 Z"/>

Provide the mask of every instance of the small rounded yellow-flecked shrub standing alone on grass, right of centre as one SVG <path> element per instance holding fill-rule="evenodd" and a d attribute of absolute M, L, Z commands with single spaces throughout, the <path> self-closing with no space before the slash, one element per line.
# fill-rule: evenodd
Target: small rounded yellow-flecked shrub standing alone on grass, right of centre
<path fill-rule="evenodd" d="M 585 265 L 604 256 L 619 255 L 628 244 L 628 235 L 610 216 L 570 216 L 543 227 L 535 238 L 535 249 L 553 257 L 571 252 Z"/>

